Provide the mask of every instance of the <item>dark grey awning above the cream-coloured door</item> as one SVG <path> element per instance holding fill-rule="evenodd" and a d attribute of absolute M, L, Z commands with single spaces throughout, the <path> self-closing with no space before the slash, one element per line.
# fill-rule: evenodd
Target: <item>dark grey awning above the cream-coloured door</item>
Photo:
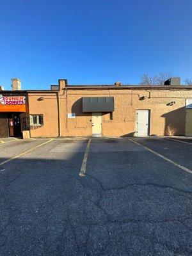
<path fill-rule="evenodd" d="M 83 112 L 112 112 L 113 97 L 83 97 Z"/>

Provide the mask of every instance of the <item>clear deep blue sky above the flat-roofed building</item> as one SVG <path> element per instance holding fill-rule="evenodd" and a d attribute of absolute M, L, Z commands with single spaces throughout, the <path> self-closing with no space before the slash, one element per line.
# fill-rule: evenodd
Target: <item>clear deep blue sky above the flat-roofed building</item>
<path fill-rule="evenodd" d="M 192 78 L 191 0 L 1 0 L 0 84 L 24 89 Z"/>

